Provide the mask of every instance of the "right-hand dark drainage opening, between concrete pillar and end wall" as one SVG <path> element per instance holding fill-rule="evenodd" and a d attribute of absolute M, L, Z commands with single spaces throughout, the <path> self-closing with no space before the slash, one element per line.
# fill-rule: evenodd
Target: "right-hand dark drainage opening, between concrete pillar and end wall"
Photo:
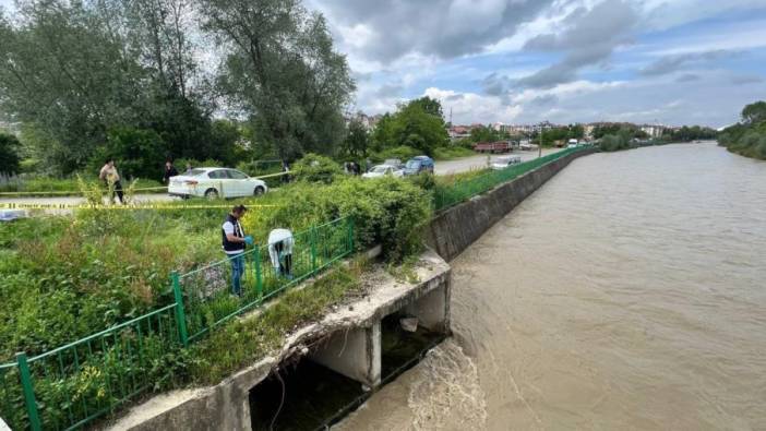
<path fill-rule="evenodd" d="M 420 362 L 445 335 L 429 331 L 406 312 L 396 312 L 381 322 L 381 379 L 387 383 Z"/>

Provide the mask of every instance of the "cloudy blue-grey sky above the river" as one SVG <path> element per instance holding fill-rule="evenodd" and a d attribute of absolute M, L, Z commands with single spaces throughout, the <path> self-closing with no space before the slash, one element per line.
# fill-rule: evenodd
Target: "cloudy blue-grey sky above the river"
<path fill-rule="evenodd" d="M 737 121 L 766 98 L 766 0 L 304 0 L 356 109 L 429 95 L 455 123 Z"/>

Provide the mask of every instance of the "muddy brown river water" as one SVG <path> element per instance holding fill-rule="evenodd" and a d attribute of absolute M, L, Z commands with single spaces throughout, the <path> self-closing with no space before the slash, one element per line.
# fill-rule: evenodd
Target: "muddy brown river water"
<path fill-rule="evenodd" d="M 579 158 L 453 268 L 454 337 L 337 429 L 766 429 L 766 163 Z"/>

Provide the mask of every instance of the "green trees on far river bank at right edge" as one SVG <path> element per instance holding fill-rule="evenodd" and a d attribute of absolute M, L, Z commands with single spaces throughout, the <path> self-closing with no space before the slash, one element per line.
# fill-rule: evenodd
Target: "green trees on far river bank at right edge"
<path fill-rule="evenodd" d="M 732 153 L 766 160 L 766 101 L 745 106 L 741 121 L 723 129 L 718 142 Z"/>

